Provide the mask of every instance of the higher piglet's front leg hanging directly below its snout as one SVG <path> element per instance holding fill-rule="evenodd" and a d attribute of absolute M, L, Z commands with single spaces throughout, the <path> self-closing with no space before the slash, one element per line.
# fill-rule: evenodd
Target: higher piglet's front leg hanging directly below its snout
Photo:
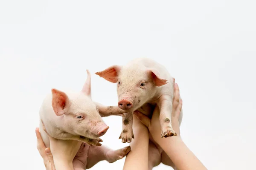
<path fill-rule="evenodd" d="M 123 143 L 130 143 L 131 139 L 134 139 L 134 133 L 132 130 L 132 119 L 133 113 L 128 112 L 125 113 L 125 117 L 122 118 L 122 132 L 121 135 L 119 136 L 119 139 L 122 139 Z"/>

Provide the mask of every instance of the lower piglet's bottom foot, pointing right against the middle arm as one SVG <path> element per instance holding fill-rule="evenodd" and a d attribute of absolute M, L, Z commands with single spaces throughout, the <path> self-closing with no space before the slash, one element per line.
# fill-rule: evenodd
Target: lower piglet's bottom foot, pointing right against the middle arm
<path fill-rule="evenodd" d="M 119 159 L 122 159 L 130 151 L 131 151 L 131 147 L 130 146 L 123 147 L 122 149 L 119 149 L 119 150 L 111 150 L 111 151 L 109 151 L 107 153 L 108 162 L 109 163 L 113 163 L 113 162 L 115 162 L 115 161 L 117 161 Z"/>

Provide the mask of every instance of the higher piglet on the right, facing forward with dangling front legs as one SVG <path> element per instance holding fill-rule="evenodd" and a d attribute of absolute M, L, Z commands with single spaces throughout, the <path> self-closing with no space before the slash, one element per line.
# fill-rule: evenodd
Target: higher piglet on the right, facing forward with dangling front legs
<path fill-rule="evenodd" d="M 123 143 L 134 139 L 132 113 L 146 103 L 157 104 L 160 108 L 161 137 L 177 135 L 171 122 L 175 79 L 163 65 L 153 59 L 138 58 L 124 66 L 112 65 L 96 74 L 117 83 L 118 106 L 127 112 L 122 118 L 119 137 Z M 183 112 L 180 113 L 180 122 L 182 115 Z"/>

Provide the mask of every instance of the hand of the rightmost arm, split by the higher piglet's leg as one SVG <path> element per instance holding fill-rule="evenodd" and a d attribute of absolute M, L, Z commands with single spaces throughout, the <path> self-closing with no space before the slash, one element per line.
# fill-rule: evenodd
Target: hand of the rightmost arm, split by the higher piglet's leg
<path fill-rule="evenodd" d="M 172 127 L 177 133 L 177 136 L 180 136 L 180 125 L 179 125 L 179 117 L 180 117 L 180 111 L 182 108 L 182 100 L 180 100 L 180 91 L 178 85 L 175 83 L 174 86 L 175 89 L 175 96 L 172 102 Z M 160 126 L 160 111 L 159 108 L 156 107 L 152 118 L 149 119 L 148 116 L 145 116 L 143 113 L 139 111 L 135 111 L 134 114 L 137 116 L 137 118 L 146 126 L 148 127 L 148 130 L 153 137 L 155 142 L 160 142 L 160 134 L 161 134 L 161 126 Z"/>

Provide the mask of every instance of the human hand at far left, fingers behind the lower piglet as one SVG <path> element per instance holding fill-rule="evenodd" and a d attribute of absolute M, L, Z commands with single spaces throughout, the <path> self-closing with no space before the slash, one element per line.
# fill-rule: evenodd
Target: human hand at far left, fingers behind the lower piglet
<path fill-rule="evenodd" d="M 44 160 L 44 166 L 46 170 L 56 170 L 53 162 L 53 156 L 50 152 L 50 148 L 45 147 L 44 141 L 41 137 L 38 127 L 35 129 L 35 134 L 37 138 L 37 149 Z"/>

